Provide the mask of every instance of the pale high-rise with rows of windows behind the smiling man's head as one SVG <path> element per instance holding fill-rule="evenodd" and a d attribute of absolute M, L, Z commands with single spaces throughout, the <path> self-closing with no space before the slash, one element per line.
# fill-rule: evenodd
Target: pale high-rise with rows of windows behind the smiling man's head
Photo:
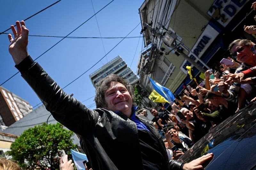
<path fill-rule="evenodd" d="M 92 85 L 96 88 L 100 79 L 110 74 L 116 74 L 124 79 L 127 79 L 131 84 L 134 84 L 139 80 L 138 77 L 132 72 L 130 67 L 127 67 L 127 64 L 119 55 L 107 64 L 100 67 L 98 70 L 94 71 L 89 75 L 89 77 L 92 81 Z"/>

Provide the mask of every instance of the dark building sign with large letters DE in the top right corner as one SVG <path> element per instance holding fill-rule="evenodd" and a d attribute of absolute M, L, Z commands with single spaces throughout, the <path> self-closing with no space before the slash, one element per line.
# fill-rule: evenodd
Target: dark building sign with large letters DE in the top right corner
<path fill-rule="evenodd" d="M 222 26 L 226 27 L 248 1 L 249 0 L 216 0 L 207 14 L 215 18 Z"/>

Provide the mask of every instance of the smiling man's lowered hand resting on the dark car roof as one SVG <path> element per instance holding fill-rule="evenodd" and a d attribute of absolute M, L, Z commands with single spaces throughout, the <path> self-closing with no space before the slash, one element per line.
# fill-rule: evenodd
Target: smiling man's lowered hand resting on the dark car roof
<path fill-rule="evenodd" d="M 191 162 L 189 163 L 186 163 L 184 164 L 183 166 L 183 169 L 184 170 L 197 170 L 197 169 L 203 169 L 205 167 L 203 167 L 203 164 L 204 166 L 207 166 L 205 165 L 206 161 L 210 163 L 210 161 L 213 159 L 213 153 L 208 153 L 204 156 L 201 156 L 200 158 L 197 158 L 195 160 L 192 160 Z"/>

